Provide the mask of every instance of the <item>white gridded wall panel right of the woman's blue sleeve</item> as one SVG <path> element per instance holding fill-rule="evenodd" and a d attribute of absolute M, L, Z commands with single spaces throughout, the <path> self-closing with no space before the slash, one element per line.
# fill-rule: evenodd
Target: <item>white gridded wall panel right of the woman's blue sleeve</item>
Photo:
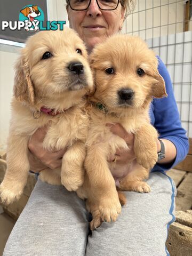
<path fill-rule="evenodd" d="M 147 43 L 167 66 L 182 126 L 192 138 L 192 31 L 148 39 Z"/>

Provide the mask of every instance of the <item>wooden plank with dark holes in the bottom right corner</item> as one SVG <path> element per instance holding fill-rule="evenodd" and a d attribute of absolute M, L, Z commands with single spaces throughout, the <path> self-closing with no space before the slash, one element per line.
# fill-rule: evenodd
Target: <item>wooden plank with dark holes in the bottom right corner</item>
<path fill-rule="evenodd" d="M 169 228 L 166 242 L 171 256 L 192 255 L 192 228 L 174 222 Z"/>

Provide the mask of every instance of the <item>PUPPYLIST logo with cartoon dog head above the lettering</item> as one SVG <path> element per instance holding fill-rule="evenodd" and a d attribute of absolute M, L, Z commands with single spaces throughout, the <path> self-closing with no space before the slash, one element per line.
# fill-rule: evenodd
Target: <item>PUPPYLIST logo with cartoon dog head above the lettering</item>
<path fill-rule="evenodd" d="M 44 26 L 46 23 L 46 26 Z M 38 31 L 38 30 L 63 30 L 66 21 L 44 22 L 43 10 L 37 5 L 27 5 L 20 10 L 19 21 L 2 21 L 2 30 L 9 28 L 11 30 Z"/>

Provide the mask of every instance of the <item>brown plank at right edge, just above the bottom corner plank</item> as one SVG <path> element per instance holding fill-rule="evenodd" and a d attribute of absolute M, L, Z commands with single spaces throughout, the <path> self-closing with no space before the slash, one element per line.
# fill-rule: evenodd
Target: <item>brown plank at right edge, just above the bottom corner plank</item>
<path fill-rule="evenodd" d="M 192 207 L 192 173 L 188 173 L 177 188 L 176 210 L 189 210 Z"/>

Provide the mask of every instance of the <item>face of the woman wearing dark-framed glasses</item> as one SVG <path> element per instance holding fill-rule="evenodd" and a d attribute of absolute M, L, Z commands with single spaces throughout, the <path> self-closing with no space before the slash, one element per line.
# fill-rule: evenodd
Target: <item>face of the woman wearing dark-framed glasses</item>
<path fill-rule="evenodd" d="M 124 8 L 120 3 L 114 11 L 102 11 L 96 0 L 91 0 L 87 10 L 74 11 L 68 6 L 67 12 L 70 27 L 77 31 L 89 52 L 95 44 L 103 42 L 123 26 Z"/>

